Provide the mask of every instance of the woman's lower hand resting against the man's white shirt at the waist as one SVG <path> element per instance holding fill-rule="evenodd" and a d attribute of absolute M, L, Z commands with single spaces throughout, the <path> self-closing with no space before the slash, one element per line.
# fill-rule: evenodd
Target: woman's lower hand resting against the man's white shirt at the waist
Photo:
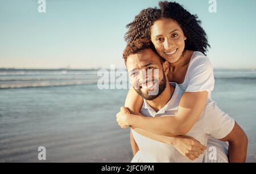
<path fill-rule="evenodd" d="M 176 136 L 171 144 L 190 160 L 199 158 L 204 153 L 204 150 L 207 149 L 206 146 L 201 145 L 195 138 L 188 136 Z"/>

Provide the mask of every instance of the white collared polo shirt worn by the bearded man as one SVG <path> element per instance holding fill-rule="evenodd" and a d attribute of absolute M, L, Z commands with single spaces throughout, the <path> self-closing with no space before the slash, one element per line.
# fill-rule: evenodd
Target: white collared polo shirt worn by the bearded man
<path fill-rule="evenodd" d="M 184 93 L 179 84 L 171 83 L 175 87 L 174 94 L 166 106 L 155 112 L 154 109 L 148 105 L 144 100 L 141 113 L 147 117 L 156 116 L 173 116 L 177 114 L 181 96 Z M 170 125 L 171 126 L 171 125 Z M 202 145 L 207 145 L 208 136 L 212 135 L 214 138 L 221 139 L 226 137 L 234 127 L 233 118 L 221 111 L 214 101 L 209 101 L 205 110 L 201 114 L 199 120 L 187 133 L 188 136 L 196 138 Z M 139 147 L 139 151 L 135 154 L 132 163 L 158 163 L 158 162 L 203 162 L 204 155 L 200 155 L 194 161 L 188 160 L 181 155 L 179 151 L 172 145 L 154 141 L 153 139 L 144 137 L 141 134 L 131 130 L 133 137 Z"/>

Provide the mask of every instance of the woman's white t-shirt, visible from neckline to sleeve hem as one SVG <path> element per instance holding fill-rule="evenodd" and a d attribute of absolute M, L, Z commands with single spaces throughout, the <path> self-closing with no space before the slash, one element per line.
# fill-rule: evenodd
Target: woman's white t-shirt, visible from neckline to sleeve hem
<path fill-rule="evenodd" d="M 212 99 L 214 74 L 209 58 L 201 52 L 194 52 L 188 65 L 185 80 L 179 85 L 185 92 L 208 91 L 208 99 Z"/>

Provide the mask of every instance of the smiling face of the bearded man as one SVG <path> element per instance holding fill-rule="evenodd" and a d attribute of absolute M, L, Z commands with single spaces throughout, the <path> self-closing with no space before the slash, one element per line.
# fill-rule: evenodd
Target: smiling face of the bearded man
<path fill-rule="evenodd" d="M 166 88 L 166 76 L 160 57 L 151 49 L 144 49 L 127 58 L 126 67 L 135 91 L 146 100 L 154 100 Z"/>

